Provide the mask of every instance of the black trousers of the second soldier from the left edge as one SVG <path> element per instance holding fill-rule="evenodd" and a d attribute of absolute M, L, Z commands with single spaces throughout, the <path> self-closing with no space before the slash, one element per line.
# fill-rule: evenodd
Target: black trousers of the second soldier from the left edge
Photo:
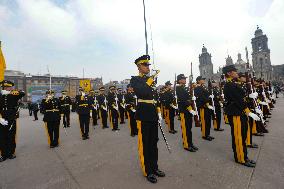
<path fill-rule="evenodd" d="M 46 129 L 48 133 L 48 144 L 50 146 L 57 146 L 59 144 L 59 125 L 60 125 L 60 120 L 46 122 Z"/>

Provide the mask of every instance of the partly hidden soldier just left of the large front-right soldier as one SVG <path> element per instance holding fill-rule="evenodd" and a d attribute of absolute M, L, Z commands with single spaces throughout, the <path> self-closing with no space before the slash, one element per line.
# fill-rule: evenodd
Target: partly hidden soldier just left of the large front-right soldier
<path fill-rule="evenodd" d="M 213 127 L 215 131 L 224 131 L 221 128 L 221 120 L 222 120 L 222 97 L 220 94 L 220 88 L 218 83 L 215 80 L 212 80 L 212 87 L 213 87 L 213 100 L 214 100 L 214 108 L 216 113 L 216 118 L 213 119 Z M 212 114 L 213 115 L 213 114 Z M 214 116 L 214 115 L 213 115 Z"/>

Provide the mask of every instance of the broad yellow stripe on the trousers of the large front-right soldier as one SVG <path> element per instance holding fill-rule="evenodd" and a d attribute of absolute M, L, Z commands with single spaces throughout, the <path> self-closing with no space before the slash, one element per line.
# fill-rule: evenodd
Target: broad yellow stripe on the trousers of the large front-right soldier
<path fill-rule="evenodd" d="M 239 163 L 244 163 L 245 161 L 244 161 L 240 116 L 233 116 L 233 124 L 234 124 L 234 138 L 235 138 L 237 159 Z"/>

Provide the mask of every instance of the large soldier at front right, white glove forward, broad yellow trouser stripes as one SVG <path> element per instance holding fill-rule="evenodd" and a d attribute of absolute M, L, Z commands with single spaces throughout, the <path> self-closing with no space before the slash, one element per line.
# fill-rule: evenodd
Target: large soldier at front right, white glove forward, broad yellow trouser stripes
<path fill-rule="evenodd" d="M 248 159 L 246 136 L 247 136 L 247 116 L 254 120 L 260 120 L 259 117 L 252 113 L 244 101 L 245 91 L 236 83 L 238 79 L 237 69 L 234 65 L 223 68 L 227 82 L 224 86 L 225 106 L 224 111 L 228 116 L 231 126 L 232 148 L 234 158 L 237 163 L 248 167 L 255 167 L 255 162 Z"/>

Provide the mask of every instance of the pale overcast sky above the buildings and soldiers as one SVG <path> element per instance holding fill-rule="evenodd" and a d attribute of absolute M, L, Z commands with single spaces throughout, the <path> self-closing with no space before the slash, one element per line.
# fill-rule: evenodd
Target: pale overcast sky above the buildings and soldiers
<path fill-rule="evenodd" d="M 196 77 L 202 44 L 214 72 L 227 53 L 245 59 L 256 25 L 268 36 L 272 64 L 283 63 L 283 0 L 145 2 L 160 83 L 188 75 L 190 62 Z M 0 40 L 8 69 L 45 74 L 49 66 L 82 77 L 84 68 L 86 77 L 123 80 L 137 74 L 133 61 L 145 53 L 142 0 L 0 0 Z"/>

